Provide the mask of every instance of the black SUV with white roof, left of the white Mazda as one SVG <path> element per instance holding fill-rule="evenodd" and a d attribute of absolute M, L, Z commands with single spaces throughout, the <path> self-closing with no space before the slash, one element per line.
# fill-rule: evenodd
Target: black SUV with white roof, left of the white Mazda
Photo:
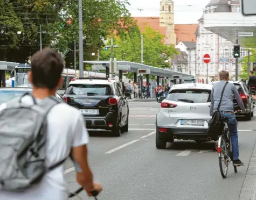
<path fill-rule="evenodd" d="M 73 78 L 63 98 L 81 110 L 88 129 L 112 131 L 120 136 L 128 132 L 129 92 L 122 93 L 114 78 Z"/>

